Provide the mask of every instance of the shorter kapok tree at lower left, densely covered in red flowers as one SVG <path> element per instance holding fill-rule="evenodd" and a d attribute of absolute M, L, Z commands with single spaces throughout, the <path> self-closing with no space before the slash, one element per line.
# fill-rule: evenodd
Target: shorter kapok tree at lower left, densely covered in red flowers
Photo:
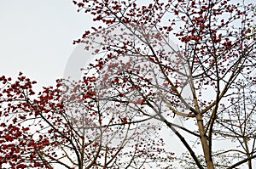
<path fill-rule="evenodd" d="M 170 166 L 172 153 L 162 150 L 162 139 L 150 137 L 159 127 L 116 125 L 126 124 L 126 116 L 94 99 L 94 81 L 57 81 L 36 94 L 36 82 L 22 73 L 15 82 L 1 76 L 1 168 Z"/>

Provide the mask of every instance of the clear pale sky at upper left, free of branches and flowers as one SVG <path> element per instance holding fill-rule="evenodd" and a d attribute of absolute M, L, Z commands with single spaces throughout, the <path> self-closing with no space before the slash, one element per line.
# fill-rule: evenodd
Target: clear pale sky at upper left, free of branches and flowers
<path fill-rule="evenodd" d="M 0 75 L 54 85 L 88 21 L 72 0 L 0 0 Z"/>

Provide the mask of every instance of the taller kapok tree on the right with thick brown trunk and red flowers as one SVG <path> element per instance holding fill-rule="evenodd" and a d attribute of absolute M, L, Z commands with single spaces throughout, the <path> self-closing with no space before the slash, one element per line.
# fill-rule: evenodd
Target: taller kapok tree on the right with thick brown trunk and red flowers
<path fill-rule="evenodd" d="M 217 0 L 73 3 L 102 23 L 74 43 L 84 42 L 85 49 L 102 56 L 90 64 L 92 73 L 86 71 L 84 82 L 96 78 L 91 98 L 111 102 L 123 112 L 118 113 L 125 115 L 120 126 L 161 121 L 180 138 L 198 168 L 232 168 L 245 162 L 253 167 L 253 4 Z M 189 127 L 173 124 L 174 115 L 183 117 Z M 197 146 L 189 144 L 188 134 L 202 152 L 195 152 Z M 218 144 L 220 138 L 224 146 Z M 218 161 L 224 156 L 226 163 Z"/>

